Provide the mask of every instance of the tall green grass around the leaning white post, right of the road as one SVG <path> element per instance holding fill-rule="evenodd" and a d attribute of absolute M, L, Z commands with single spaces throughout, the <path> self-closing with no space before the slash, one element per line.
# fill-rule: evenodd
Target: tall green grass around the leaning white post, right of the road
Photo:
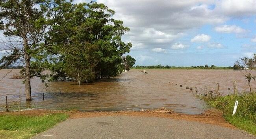
<path fill-rule="evenodd" d="M 223 110 L 223 117 L 241 130 L 256 135 L 256 93 L 227 95 L 204 100 L 212 107 Z M 236 114 L 232 115 L 235 101 L 238 101 Z"/>

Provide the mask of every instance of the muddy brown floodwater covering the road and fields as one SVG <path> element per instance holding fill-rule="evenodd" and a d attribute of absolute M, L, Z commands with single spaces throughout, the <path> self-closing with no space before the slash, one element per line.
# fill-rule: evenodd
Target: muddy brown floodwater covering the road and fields
<path fill-rule="evenodd" d="M 32 82 L 32 102 L 25 101 L 22 79 L 10 79 L 19 70 L 13 70 L 0 81 L 0 110 L 4 110 L 6 96 L 9 103 L 19 100 L 22 88 L 22 107 L 47 109 L 77 108 L 80 111 L 144 110 L 165 107 L 175 112 L 197 114 L 206 104 L 195 97 L 195 87 L 214 90 L 219 82 L 223 95 L 233 92 L 232 80 L 237 80 L 240 91 L 248 85 L 240 71 L 233 70 L 131 70 L 112 79 L 91 84 L 76 85 L 76 82 L 49 82 L 48 87 L 38 78 Z M 0 77 L 7 69 L 0 70 Z M 252 81 L 256 88 L 256 81 Z M 182 85 L 182 87 L 180 87 Z M 186 86 L 193 87 L 193 91 Z M 230 88 L 230 90 L 228 90 Z M 61 94 L 60 94 L 61 91 Z M 45 100 L 43 101 L 43 93 Z"/>

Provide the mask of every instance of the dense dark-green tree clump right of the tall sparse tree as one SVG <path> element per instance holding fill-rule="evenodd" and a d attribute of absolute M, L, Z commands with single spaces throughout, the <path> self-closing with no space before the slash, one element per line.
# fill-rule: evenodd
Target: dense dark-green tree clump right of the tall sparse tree
<path fill-rule="evenodd" d="M 73 73 L 79 72 L 83 74 L 82 81 L 90 82 L 122 72 L 121 56 L 130 51 L 132 44 L 122 42 L 121 36 L 130 29 L 112 18 L 113 10 L 96 2 L 72 4 L 66 1 L 50 2 L 43 9 L 48 15 L 55 14 L 55 18 L 48 18 L 48 22 L 55 23 L 49 31 L 52 36 L 49 41 L 56 44 L 52 49 L 54 56 L 50 58 L 50 80 L 74 79 L 77 77 Z"/>

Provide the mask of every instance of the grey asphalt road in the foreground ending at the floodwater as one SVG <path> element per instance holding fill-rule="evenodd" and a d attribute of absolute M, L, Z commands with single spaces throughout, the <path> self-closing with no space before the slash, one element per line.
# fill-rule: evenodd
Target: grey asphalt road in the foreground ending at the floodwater
<path fill-rule="evenodd" d="M 241 130 L 160 117 L 68 119 L 34 139 L 256 139 Z"/>

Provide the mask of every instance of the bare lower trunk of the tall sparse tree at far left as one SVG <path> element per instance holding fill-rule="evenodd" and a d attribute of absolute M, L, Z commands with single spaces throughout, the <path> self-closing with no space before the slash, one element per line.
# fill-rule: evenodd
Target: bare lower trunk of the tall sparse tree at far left
<path fill-rule="evenodd" d="M 32 101 L 31 98 L 31 84 L 30 84 L 30 79 L 31 79 L 31 71 L 30 71 L 30 57 L 28 54 L 25 52 L 25 94 L 26 94 L 26 101 Z"/>

